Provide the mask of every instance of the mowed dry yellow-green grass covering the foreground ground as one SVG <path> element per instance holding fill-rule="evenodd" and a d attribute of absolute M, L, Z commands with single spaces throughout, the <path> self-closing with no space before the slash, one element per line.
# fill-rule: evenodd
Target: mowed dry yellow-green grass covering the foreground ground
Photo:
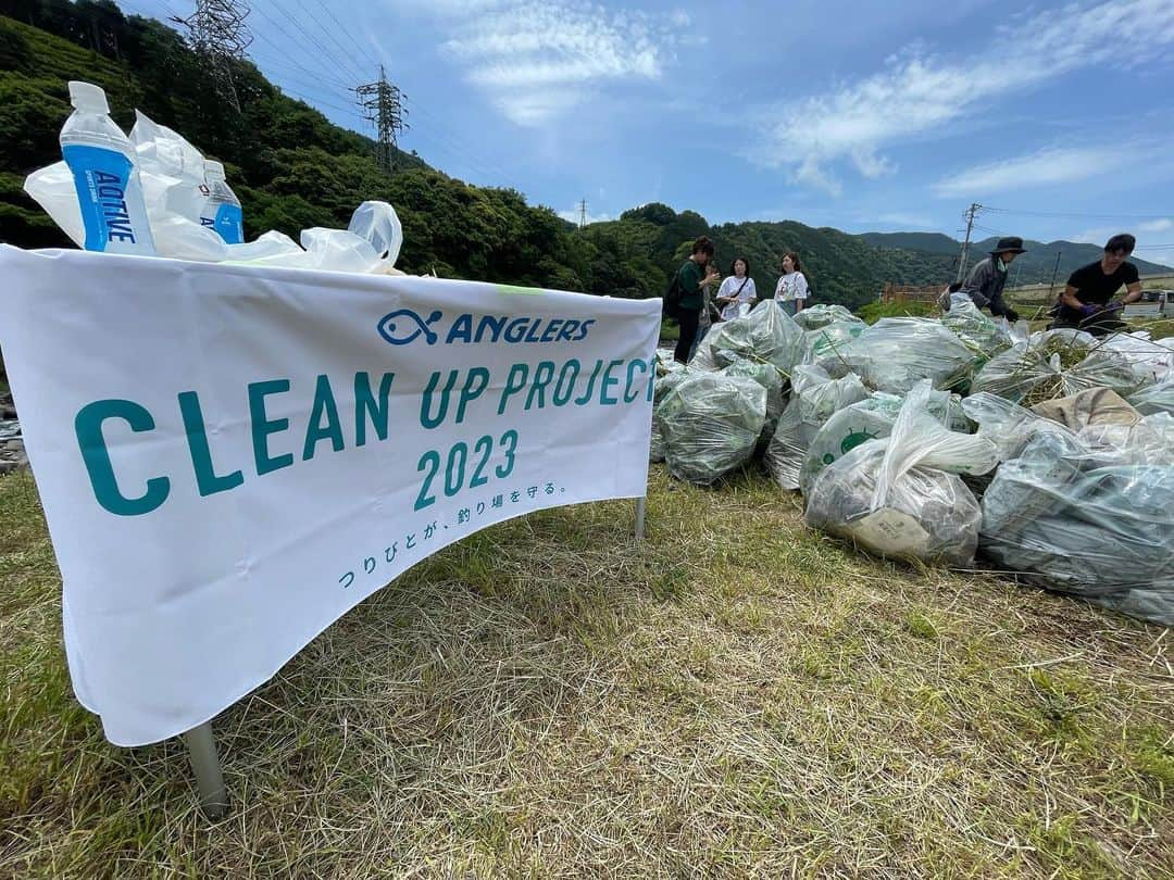
<path fill-rule="evenodd" d="M 0 875 L 1174 874 L 1170 636 L 866 559 L 755 473 L 654 467 L 407 573 L 176 742 L 74 702 L 34 483 L 0 479 Z"/>

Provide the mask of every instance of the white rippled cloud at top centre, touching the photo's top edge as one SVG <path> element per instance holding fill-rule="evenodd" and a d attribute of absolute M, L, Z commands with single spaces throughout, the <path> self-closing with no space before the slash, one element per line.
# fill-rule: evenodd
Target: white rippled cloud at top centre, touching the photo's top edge
<path fill-rule="evenodd" d="M 434 0 L 426 5 L 451 36 L 440 52 L 465 66 L 519 126 L 538 127 L 580 104 L 592 89 L 654 81 L 688 34 L 681 9 L 653 16 L 587 0 Z"/>

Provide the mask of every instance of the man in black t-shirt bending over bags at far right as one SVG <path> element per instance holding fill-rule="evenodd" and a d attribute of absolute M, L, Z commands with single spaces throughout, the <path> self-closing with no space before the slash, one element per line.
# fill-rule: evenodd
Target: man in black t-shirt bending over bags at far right
<path fill-rule="evenodd" d="M 1141 280 L 1138 268 L 1126 263 L 1133 253 L 1136 239 L 1126 233 L 1113 236 L 1105 245 L 1105 256 L 1095 263 L 1081 266 L 1068 278 L 1068 284 L 1052 310 L 1055 320 L 1052 329 L 1079 327 L 1093 336 L 1105 336 L 1126 327 L 1119 314 L 1128 303 L 1141 299 Z M 1113 302 L 1113 295 L 1122 285 L 1125 299 Z"/>

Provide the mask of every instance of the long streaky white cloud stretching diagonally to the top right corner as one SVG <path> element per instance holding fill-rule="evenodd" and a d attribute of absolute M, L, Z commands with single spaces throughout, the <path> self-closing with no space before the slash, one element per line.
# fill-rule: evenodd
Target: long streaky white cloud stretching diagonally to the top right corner
<path fill-rule="evenodd" d="M 1172 42 L 1174 0 L 1070 4 L 996 32 L 962 62 L 913 48 L 866 79 L 789 102 L 754 157 L 835 192 L 836 163 L 846 161 L 865 177 L 890 172 L 880 153 L 886 147 L 939 133 L 1080 68 L 1160 56 Z"/>

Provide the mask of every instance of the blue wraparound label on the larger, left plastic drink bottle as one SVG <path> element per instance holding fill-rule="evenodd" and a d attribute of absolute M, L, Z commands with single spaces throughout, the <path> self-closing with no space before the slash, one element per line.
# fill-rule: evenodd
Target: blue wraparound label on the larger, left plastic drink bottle
<path fill-rule="evenodd" d="M 130 160 L 117 150 L 88 144 L 67 144 L 61 155 L 77 190 L 86 250 L 154 253 L 142 190 Z"/>

